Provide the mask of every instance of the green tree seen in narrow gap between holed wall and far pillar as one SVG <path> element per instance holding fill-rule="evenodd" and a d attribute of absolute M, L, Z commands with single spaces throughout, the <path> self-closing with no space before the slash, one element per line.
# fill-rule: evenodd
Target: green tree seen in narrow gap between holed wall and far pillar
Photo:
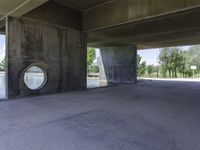
<path fill-rule="evenodd" d="M 95 48 L 89 47 L 87 49 L 87 71 L 89 72 L 90 66 L 93 64 L 94 60 L 96 58 L 96 51 Z"/>

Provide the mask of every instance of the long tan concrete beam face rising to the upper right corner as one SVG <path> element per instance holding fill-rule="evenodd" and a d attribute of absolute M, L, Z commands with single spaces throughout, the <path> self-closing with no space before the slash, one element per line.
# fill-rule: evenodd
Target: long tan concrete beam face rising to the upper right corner
<path fill-rule="evenodd" d="M 199 0 L 114 0 L 85 11 L 83 29 L 96 31 L 196 7 L 200 7 Z"/>

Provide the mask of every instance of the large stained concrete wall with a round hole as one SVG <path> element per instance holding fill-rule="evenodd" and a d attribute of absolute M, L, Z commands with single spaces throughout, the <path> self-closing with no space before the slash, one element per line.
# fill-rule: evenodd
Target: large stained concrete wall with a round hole
<path fill-rule="evenodd" d="M 8 97 L 50 94 L 86 88 L 86 44 L 81 31 L 23 18 L 7 19 Z M 24 69 L 46 70 L 47 84 L 32 91 Z"/>

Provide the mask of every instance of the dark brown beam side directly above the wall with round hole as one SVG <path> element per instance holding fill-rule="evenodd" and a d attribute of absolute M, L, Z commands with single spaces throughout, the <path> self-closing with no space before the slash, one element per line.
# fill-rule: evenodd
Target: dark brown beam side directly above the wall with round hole
<path fill-rule="evenodd" d="M 30 11 L 23 17 L 82 30 L 82 12 L 54 1 L 48 1 L 48 3 Z"/>

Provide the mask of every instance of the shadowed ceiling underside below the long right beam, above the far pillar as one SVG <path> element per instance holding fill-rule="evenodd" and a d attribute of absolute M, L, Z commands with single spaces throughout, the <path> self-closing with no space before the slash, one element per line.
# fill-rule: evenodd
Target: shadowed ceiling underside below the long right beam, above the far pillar
<path fill-rule="evenodd" d="M 137 45 L 139 49 L 200 44 L 200 8 L 108 28 L 88 35 L 89 46 Z"/>

